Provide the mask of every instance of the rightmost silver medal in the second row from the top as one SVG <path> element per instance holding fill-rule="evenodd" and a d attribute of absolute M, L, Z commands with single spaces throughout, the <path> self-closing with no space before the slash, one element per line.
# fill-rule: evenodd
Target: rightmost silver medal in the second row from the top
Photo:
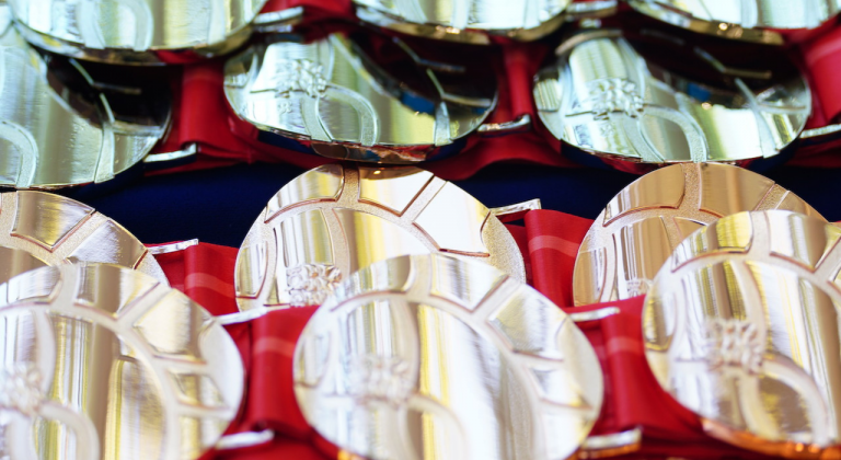
<path fill-rule="evenodd" d="M 806 81 L 784 58 L 773 70 L 735 69 L 654 36 L 634 46 L 609 30 L 561 45 L 534 87 L 554 138 L 608 164 L 748 162 L 780 153 L 811 111 Z M 670 53 L 680 58 L 667 61 Z"/>

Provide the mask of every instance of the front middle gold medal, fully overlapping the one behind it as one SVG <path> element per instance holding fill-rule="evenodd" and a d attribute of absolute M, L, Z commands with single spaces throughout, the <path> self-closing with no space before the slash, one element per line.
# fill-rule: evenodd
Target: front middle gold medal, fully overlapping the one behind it
<path fill-rule="evenodd" d="M 307 421 L 369 459 L 565 459 L 602 402 L 592 347 L 531 287 L 440 254 L 355 273 L 293 364 Z M 493 440 L 493 441 L 491 441 Z"/>

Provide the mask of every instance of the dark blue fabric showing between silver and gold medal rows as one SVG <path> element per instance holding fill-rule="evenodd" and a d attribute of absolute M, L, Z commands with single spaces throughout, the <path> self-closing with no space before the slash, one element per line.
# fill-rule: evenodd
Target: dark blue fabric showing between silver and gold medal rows
<path fill-rule="evenodd" d="M 198 238 L 238 248 L 268 199 L 303 170 L 253 164 L 133 180 L 66 192 L 115 219 L 145 243 Z M 841 169 L 780 166 L 764 175 L 830 221 L 841 220 Z M 637 175 L 602 169 L 496 164 L 457 182 L 488 207 L 540 198 L 544 209 L 595 218 Z"/>

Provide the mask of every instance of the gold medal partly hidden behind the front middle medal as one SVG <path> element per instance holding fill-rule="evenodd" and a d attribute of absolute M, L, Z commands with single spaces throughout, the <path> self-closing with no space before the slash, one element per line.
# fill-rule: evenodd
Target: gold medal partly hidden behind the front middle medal
<path fill-rule="evenodd" d="M 237 256 L 240 310 L 320 304 L 352 273 L 447 252 L 526 280 L 505 226 L 456 185 L 416 168 L 329 164 L 275 195 Z"/>

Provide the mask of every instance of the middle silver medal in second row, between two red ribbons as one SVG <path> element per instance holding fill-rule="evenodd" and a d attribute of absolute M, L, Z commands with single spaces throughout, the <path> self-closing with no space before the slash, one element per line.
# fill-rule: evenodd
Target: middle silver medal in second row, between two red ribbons
<path fill-rule="evenodd" d="M 402 42 L 354 37 L 254 45 L 226 65 L 228 102 L 270 143 L 381 163 L 454 154 L 496 106 L 489 67 L 472 79 L 463 62 L 430 62 Z M 365 48 L 391 62 L 383 67 Z"/>

